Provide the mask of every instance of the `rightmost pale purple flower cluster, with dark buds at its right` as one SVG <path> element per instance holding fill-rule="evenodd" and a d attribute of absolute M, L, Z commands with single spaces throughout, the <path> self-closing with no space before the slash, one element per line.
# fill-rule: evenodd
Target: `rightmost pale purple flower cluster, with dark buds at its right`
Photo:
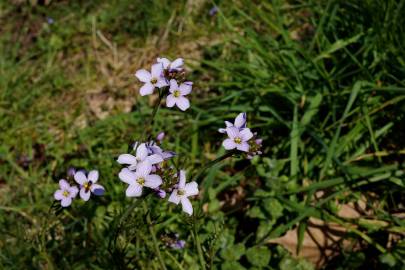
<path fill-rule="evenodd" d="M 226 150 L 237 149 L 247 153 L 247 158 L 251 159 L 255 155 L 260 155 L 262 139 L 257 138 L 257 133 L 252 133 L 247 128 L 246 113 L 236 116 L 234 123 L 225 121 L 225 128 L 220 128 L 220 133 L 226 133 L 228 138 L 222 142 Z"/>

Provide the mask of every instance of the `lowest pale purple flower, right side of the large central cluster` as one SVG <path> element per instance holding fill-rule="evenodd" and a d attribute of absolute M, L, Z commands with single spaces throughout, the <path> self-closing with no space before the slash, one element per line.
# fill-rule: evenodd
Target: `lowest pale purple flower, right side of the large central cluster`
<path fill-rule="evenodd" d="M 193 206 L 191 205 L 188 197 L 198 194 L 198 184 L 193 181 L 186 184 L 186 172 L 180 170 L 180 179 L 177 187 L 173 189 L 172 194 L 169 197 L 169 202 L 179 204 L 183 208 L 183 211 L 189 214 L 193 214 Z"/>

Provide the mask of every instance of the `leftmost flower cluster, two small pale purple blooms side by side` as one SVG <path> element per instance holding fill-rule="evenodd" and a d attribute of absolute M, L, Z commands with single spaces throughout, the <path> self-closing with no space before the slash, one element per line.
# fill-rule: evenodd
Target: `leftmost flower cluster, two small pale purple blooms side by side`
<path fill-rule="evenodd" d="M 53 195 L 55 200 L 60 201 L 62 207 L 68 207 L 71 205 L 73 199 L 76 198 L 78 193 L 80 194 L 80 198 L 82 198 L 84 201 L 88 201 L 90 199 L 91 193 L 97 196 L 104 194 L 104 187 L 96 184 L 98 181 L 97 170 L 90 171 L 86 176 L 84 171 L 76 172 L 73 169 L 69 169 L 68 174 L 73 176 L 76 185 L 71 186 L 68 181 L 61 179 L 59 181 L 60 189 L 55 191 Z"/>

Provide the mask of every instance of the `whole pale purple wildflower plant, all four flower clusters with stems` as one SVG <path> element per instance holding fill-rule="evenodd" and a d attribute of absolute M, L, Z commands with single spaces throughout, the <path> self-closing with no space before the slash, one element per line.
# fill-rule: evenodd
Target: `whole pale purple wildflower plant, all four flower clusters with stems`
<path fill-rule="evenodd" d="M 148 224 L 154 249 L 162 269 L 165 269 L 165 262 L 162 260 L 155 237 L 154 221 L 145 203 L 146 197 L 157 198 L 162 202 L 162 205 L 166 202 L 168 203 L 167 207 L 176 212 L 178 208 L 173 206 L 180 204 L 186 217 L 191 217 L 190 221 L 194 227 L 193 235 L 199 259 L 204 269 L 204 256 L 195 229 L 197 215 L 193 209 L 198 207 L 198 210 L 200 210 L 202 205 L 193 203 L 193 201 L 203 198 L 199 196 L 201 192 L 199 185 L 202 176 L 206 169 L 234 155 L 252 158 L 254 155 L 261 154 L 262 141 L 257 138 L 256 133 L 253 133 L 247 127 L 247 115 L 245 112 L 241 112 L 233 122 L 225 121 L 225 127 L 219 129 L 220 133 L 227 135 L 222 145 L 228 151 L 223 156 L 200 168 L 195 175 L 189 174 L 187 181 L 186 171 L 193 171 L 193 168 L 186 168 L 183 164 L 174 162 L 173 157 L 176 156 L 176 153 L 162 146 L 165 132 L 160 132 L 154 140 L 152 134 L 147 134 L 147 128 L 153 126 L 154 118 L 164 99 L 168 108 L 177 108 L 184 113 L 192 108 L 192 102 L 190 102 L 192 98 L 190 97 L 192 97 L 193 83 L 187 80 L 186 75 L 182 58 L 177 58 L 174 61 L 167 58 L 157 58 L 157 62 L 151 66 L 150 71 L 140 69 L 135 73 L 135 77 L 143 83 L 143 86 L 139 89 L 139 94 L 146 96 L 157 92 L 158 100 L 153 108 L 149 122 L 146 121 L 149 127 L 144 127 L 144 135 L 137 138 L 136 142 L 130 147 L 130 151 L 120 154 L 116 159 L 117 163 L 122 166 L 117 178 L 127 184 L 125 196 L 134 200 L 134 204 L 125 210 L 119 220 L 122 220 L 124 216 L 132 211 L 139 201 L 143 202 L 145 221 Z M 70 170 L 70 174 L 74 179 L 72 184 L 76 186 L 71 186 L 67 181 L 61 180 L 59 182 L 60 189 L 54 194 L 55 200 L 60 201 L 62 207 L 70 206 L 78 193 L 80 198 L 86 202 L 92 194 L 104 194 L 104 187 L 98 184 L 99 173 L 97 170 L 88 173 L 81 170 Z M 118 229 L 117 233 L 119 234 Z M 176 239 L 170 242 L 168 246 L 173 249 L 182 249 L 185 246 L 185 241 Z"/>

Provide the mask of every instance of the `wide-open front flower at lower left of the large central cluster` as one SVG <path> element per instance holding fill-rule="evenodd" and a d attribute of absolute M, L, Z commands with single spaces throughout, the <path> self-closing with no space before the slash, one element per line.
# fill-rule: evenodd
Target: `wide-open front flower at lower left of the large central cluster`
<path fill-rule="evenodd" d="M 151 171 L 152 165 L 148 162 L 140 164 L 135 172 L 128 168 L 121 170 L 118 177 L 129 185 L 125 192 L 127 197 L 139 197 L 142 195 L 143 187 L 156 189 L 162 184 L 162 178 L 159 175 L 150 174 Z"/>

